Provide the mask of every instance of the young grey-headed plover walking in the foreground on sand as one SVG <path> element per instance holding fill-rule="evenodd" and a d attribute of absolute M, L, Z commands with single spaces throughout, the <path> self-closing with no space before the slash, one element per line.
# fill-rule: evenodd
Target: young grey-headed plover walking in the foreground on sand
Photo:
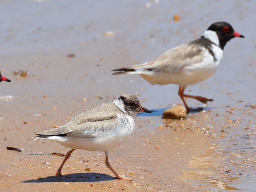
<path fill-rule="evenodd" d="M 105 164 L 115 174 L 117 179 L 130 180 L 117 174 L 108 161 L 108 153 L 120 146 L 131 136 L 135 129 L 133 115 L 147 112 L 151 113 L 131 94 L 123 94 L 113 103 L 100 105 L 76 116 L 73 120 L 50 131 L 36 134 L 28 142 L 38 139 L 48 139 L 71 148 L 68 151 L 56 175 L 59 177 L 61 169 L 70 154 L 75 149 L 88 151 L 104 151 Z"/>

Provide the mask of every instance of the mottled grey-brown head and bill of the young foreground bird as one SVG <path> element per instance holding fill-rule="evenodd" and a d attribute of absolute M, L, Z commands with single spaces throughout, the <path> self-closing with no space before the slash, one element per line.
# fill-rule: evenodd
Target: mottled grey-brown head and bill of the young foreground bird
<path fill-rule="evenodd" d="M 141 112 L 151 113 L 145 107 L 142 107 L 141 102 L 139 102 L 138 98 L 132 94 L 122 94 L 118 100 L 122 101 L 124 105 L 124 110 L 129 114 L 137 114 Z"/>

